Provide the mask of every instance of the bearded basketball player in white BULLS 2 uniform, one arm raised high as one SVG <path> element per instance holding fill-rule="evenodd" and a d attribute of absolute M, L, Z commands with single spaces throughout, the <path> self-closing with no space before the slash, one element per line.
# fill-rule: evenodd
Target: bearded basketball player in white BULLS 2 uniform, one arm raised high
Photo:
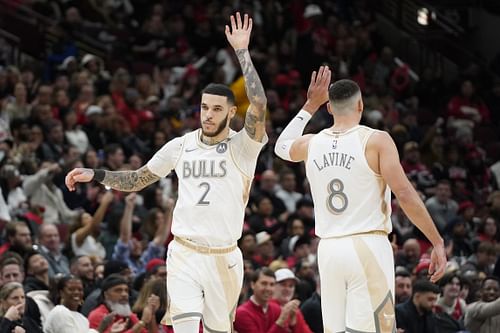
<path fill-rule="evenodd" d="M 243 258 L 236 246 L 257 157 L 267 142 L 266 96 L 250 59 L 252 19 L 231 16 L 226 37 L 234 48 L 250 100 L 245 128 L 234 132 L 234 95 L 209 84 L 201 96 L 201 129 L 165 144 L 143 167 L 111 172 L 74 169 L 66 185 L 97 180 L 120 191 L 139 191 L 175 170 L 179 197 L 173 213 L 175 238 L 167 252 L 169 315 L 176 333 L 230 332 L 243 283 Z"/>

